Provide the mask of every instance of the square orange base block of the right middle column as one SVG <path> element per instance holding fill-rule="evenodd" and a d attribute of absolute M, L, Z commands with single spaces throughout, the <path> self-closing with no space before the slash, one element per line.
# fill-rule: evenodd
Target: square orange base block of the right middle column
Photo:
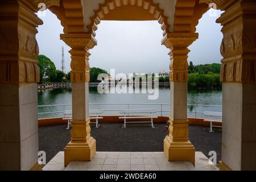
<path fill-rule="evenodd" d="M 189 141 L 174 142 L 170 137 L 164 139 L 164 155 L 171 162 L 173 161 L 189 161 L 195 166 L 196 150 Z"/>

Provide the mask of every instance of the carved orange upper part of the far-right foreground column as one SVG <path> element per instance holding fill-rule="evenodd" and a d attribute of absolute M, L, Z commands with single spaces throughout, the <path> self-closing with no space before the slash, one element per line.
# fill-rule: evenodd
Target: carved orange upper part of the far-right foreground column
<path fill-rule="evenodd" d="M 223 26 L 222 82 L 256 82 L 256 3 L 236 1 L 217 19 Z"/>

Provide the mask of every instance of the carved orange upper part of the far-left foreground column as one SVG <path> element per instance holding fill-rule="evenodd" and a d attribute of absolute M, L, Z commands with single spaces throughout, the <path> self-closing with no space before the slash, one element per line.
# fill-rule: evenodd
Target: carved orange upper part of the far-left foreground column
<path fill-rule="evenodd" d="M 31 1 L 1 2 L 0 82 L 39 82 L 39 53 L 36 28 L 42 20 L 36 16 Z M 15 17 L 15 18 L 14 18 Z"/>

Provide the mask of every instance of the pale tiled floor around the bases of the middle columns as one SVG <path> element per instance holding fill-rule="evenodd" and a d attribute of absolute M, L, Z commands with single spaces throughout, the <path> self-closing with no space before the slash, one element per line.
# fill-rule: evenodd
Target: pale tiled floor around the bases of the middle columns
<path fill-rule="evenodd" d="M 196 167 L 191 162 L 168 162 L 163 152 L 97 152 L 90 162 L 71 162 L 64 167 L 64 152 L 59 152 L 44 171 L 217 171 L 202 153 L 196 152 Z"/>

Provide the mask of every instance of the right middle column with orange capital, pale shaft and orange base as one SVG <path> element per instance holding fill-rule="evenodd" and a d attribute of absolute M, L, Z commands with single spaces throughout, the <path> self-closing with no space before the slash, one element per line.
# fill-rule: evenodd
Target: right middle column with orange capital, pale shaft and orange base
<path fill-rule="evenodd" d="M 195 166 L 195 147 L 188 140 L 187 82 L 188 53 L 198 34 L 171 33 L 163 40 L 170 48 L 171 111 L 170 134 L 164 139 L 164 154 L 170 161 L 191 161 Z"/>

